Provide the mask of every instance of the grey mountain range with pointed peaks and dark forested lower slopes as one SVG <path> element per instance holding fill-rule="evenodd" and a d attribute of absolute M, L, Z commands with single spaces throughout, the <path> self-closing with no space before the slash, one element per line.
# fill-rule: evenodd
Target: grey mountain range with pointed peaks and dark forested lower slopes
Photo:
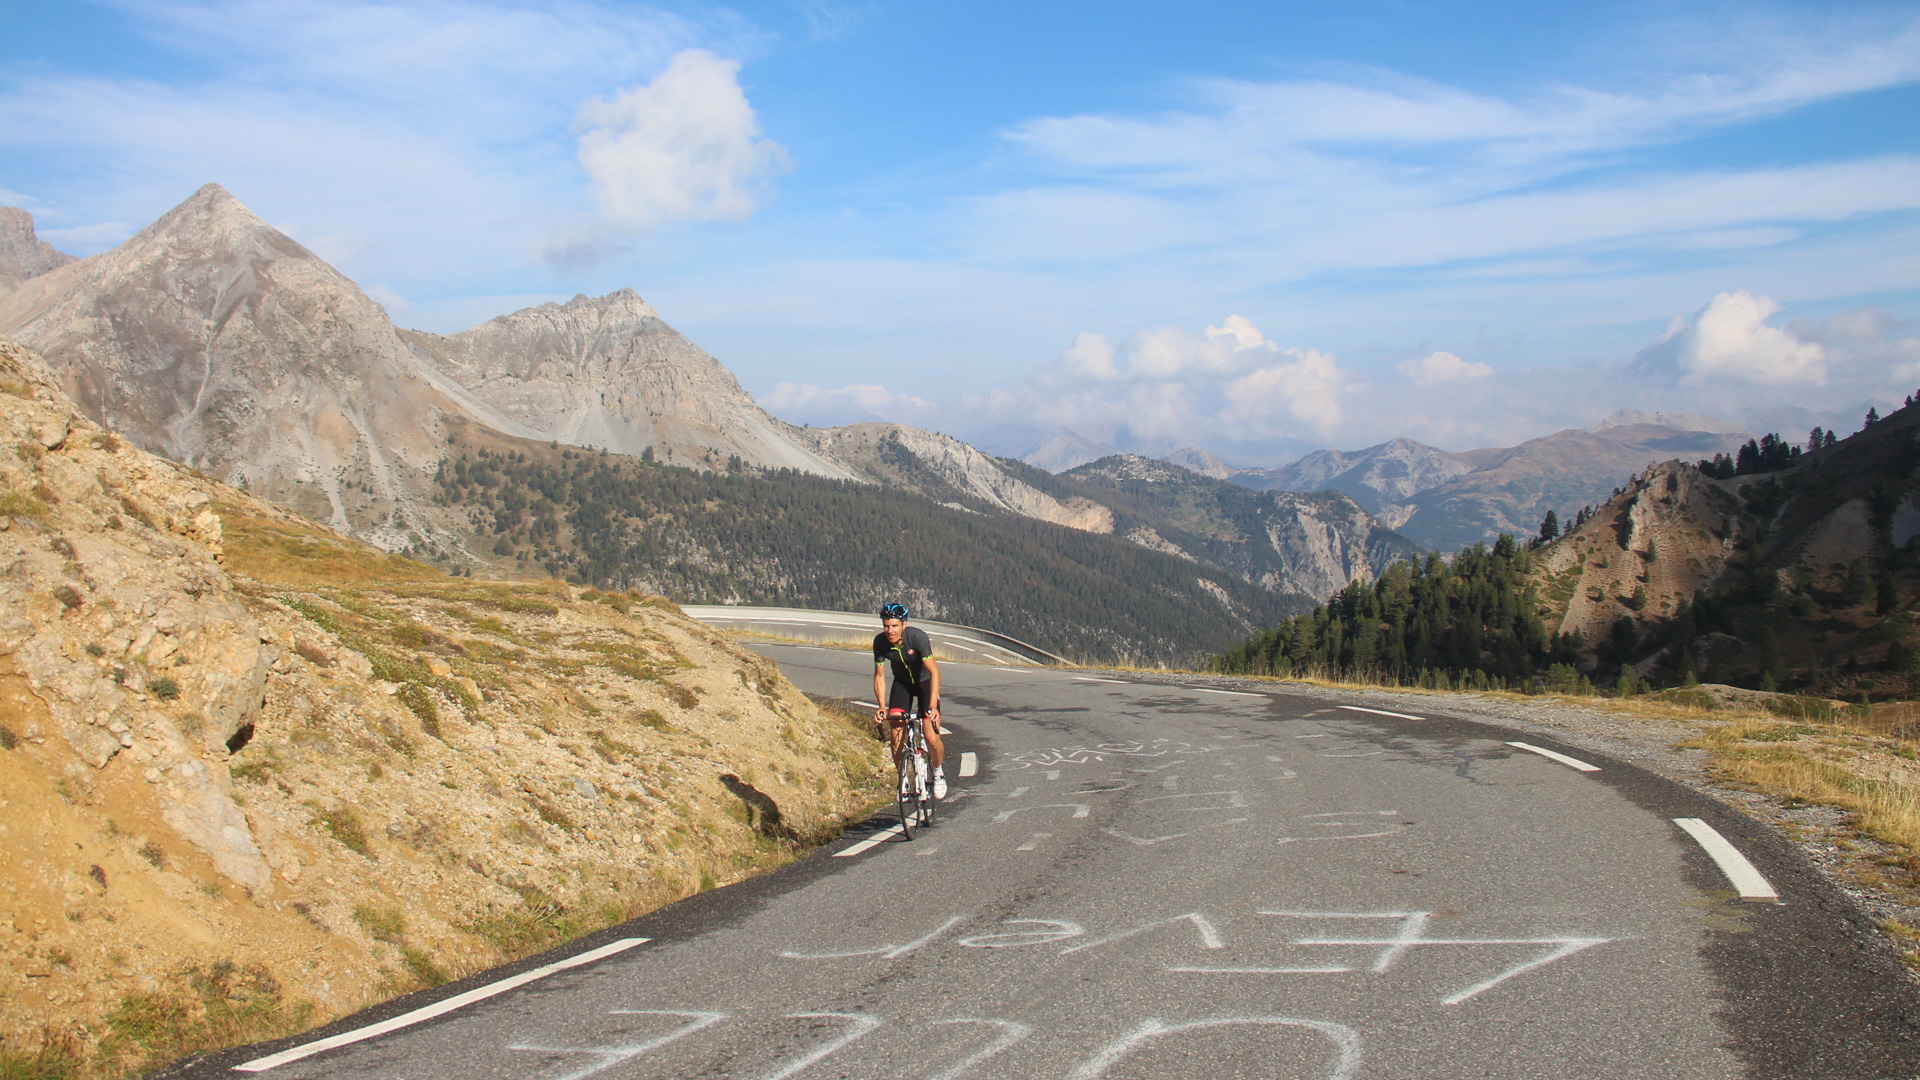
<path fill-rule="evenodd" d="M 1173 659 L 1356 575 L 1371 580 L 1409 550 L 1344 498 L 1260 496 L 1162 467 L 1185 484 L 1181 505 L 1164 505 L 1106 475 L 1054 479 L 902 425 L 797 429 L 632 290 L 459 334 L 399 329 L 219 184 L 79 261 L 38 242 L 23 211 L 0 227 L 0 277 L 12 282 L 0 334 L 38 350 L 90 417 L 344 534 L 455 571 L 545 567 L 678 582 L 689 600 L 837 607 L 858 607 L 879 586 L 918 588 L 927 615 L 998 621 L 1085 655 Z M 572 448 L 607 455 L 593 477 L 624 492 L 620 513 L 607 517 L 609 505 L 572 486 L 589 459 Z M 472 473 L 447 482 L 482 452 L 493 465 L 478 475 L 492 486 Z M 620 457 L 735 480 L 664 484 L 624 471 Z M 749 498 L 745 479 L 770 484 L 751 490 L 758 509 L 728 503 Z M 707 494 L 680 502 L 693 490 Z M 874 502 L 881 494 L 895 502 Z M 651 532 L 664 519 L 647 500 L 682 507 L 670 515 L 678 534 Z M 858 509 L 860 500 L 874 505 Z M 991 588 L 922 573 L 910 546 L 885 557 L 876 548 L 858 571 L 843 555 L 868 546 L 847 530 L 872 527 L 879 505 L 937 534 L 962 578 L 993 567 Z M 751 513 L 770 507 L 783 507 L 780 528 L 795 542 L 745 544 L 768 527 Z M 966 525 L 983 517 L 1031 525 Z M 1238 532 L 1215 534 L 1229 525 Z M 1075 567 L 1048 552 L 1077 552 Z M 756 561 L 766 557 L 776 563 Z M 1023 623 L 1046 596 L 1044 621 Z"/>

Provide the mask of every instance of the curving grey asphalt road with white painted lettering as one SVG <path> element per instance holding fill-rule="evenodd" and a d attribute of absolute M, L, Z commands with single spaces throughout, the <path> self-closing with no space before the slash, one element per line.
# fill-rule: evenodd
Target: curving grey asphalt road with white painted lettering
<path fill-rule="evenodd" d="M 872 692 L 860 653 L 762 651 L 806 690 Z M 186 1072 L 259 1068 L 607 947 L 259 1074 L 1920 1074 L 1920 995 L 1870 928 L 1791 846 L 1684 788 L 1440 715 L 943 675 L 947 771 L 972 753 L 975 774 L 918 840 L 889 815 L 781 872 Z M 1674 819 L 1718 830 L 1780 903 L 1738 899 Z"/>

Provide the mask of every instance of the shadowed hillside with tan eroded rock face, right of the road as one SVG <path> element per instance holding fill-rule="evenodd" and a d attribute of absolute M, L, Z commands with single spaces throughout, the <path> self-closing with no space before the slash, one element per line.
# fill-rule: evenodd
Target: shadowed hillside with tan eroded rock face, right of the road
<path fill-rule="evenodd" d="M 1548 615 L 1601 676 L 1912 696 L 1916 469 L 1912 405 L 1776 473 L 1657 465 L 1544 550 Z"/>

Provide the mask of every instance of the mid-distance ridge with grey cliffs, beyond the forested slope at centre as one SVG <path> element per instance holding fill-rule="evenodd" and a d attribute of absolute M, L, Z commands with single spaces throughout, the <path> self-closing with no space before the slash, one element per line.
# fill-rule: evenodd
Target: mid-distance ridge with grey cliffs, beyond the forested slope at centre
<path fill-rule="evenodd" d="M 1135 544 L 1221 567 L 1281 596 L 1323 600 L 1352 580 L 1371 582 L 1417 548 L 1340 492 L 1250 492 L 1192 469 L 1121 454 L 1033 484 L 1060 498 L 1112 507 L 1114 530 Z"/>

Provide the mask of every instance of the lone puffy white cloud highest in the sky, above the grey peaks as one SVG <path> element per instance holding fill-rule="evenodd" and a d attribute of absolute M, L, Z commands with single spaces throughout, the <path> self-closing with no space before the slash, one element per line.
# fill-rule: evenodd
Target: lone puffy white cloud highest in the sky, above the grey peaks
<path fill-rule="evenodd" d="M 659 77 L 580 106 L 580 165 L 601 215 L 624 227 L 743 221 L 787 152 L 760 138 L 739 63 L 703 48 Z"/>

